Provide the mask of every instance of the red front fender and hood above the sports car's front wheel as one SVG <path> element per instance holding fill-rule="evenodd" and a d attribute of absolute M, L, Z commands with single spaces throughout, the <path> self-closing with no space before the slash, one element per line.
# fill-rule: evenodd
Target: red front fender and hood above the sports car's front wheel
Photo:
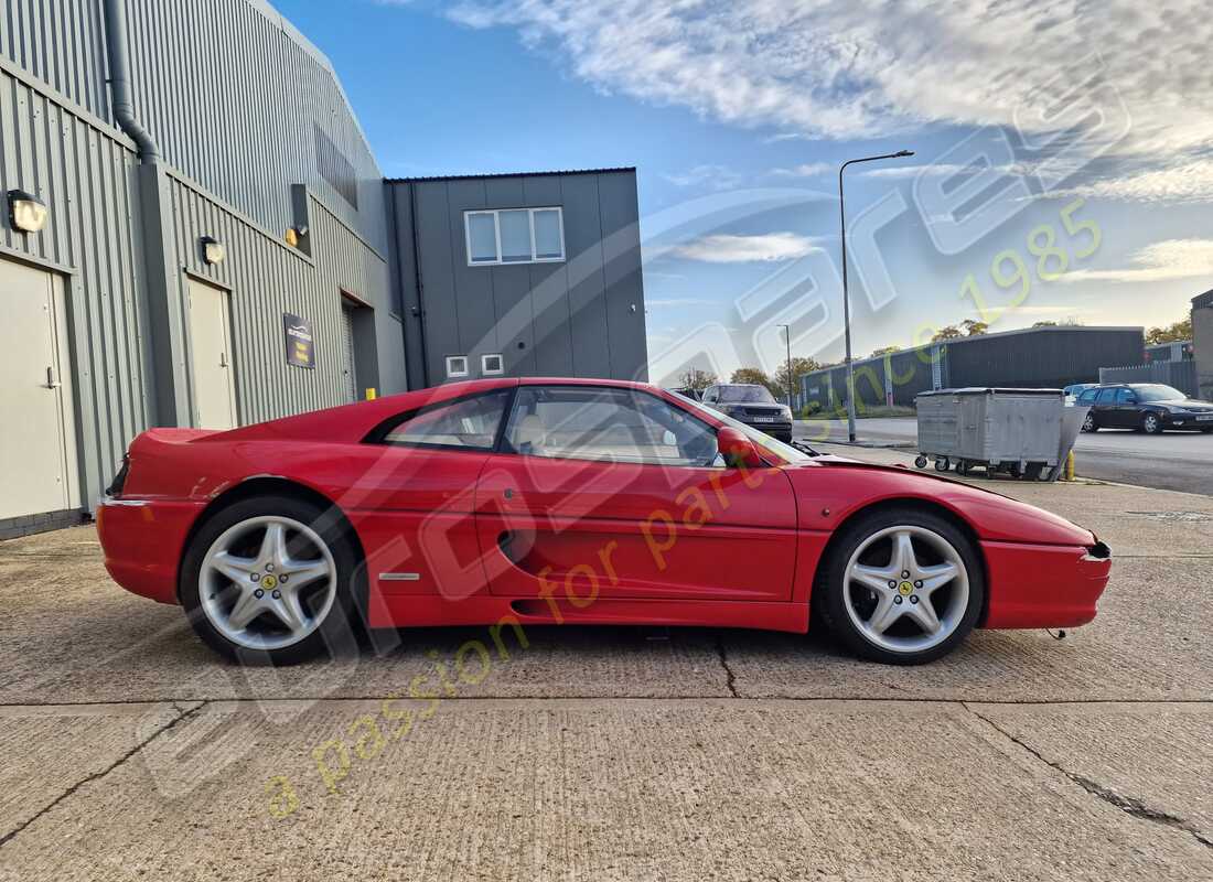
<path fill-rule="evenodd" d="M 785 470 L 796 490 L 801 524 L 836 529 L 870 505 L 898 500 L 939 506 L 963 518 L 986 541 L 1090 546 L 1095 536 L 1059 514 L 983 486 L 904 466 L 844 456 L 816 456 Z"/>

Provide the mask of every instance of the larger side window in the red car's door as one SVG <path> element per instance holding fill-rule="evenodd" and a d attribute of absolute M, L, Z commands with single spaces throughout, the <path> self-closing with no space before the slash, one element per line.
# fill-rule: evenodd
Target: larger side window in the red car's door
<path fill-rule="evenodd" d="M 716 432 L 656 396 L 590 386 L 518 389 L 506 443 L 524 456 L 711 466 Z"/>

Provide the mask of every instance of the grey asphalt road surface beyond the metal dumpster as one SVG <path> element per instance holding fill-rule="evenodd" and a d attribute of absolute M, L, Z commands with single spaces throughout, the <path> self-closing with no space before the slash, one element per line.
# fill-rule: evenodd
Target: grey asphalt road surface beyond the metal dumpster
<path fill-rule="evenodd" d="M 858 420 L 860 443 L 913 445 L 918 423 L 913 417 Z M 845 420 L 802 420 L 796 438 L 844 442 Z M 1100 429 L 1078 436 L 1077 473 L 1162 490 L 1213 494 L 1213 434 L 1164 432 L 1158 436 L 1127 429 Z"/>

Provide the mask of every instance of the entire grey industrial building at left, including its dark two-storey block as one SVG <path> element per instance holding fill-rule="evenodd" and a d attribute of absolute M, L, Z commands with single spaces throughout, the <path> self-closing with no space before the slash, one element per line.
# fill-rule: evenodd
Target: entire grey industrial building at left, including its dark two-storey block
<path fill-rule="evenodd" d="M 0 0 L 0 536 L 150 426 L 645 376 L 634 170 L 385 181 L 262 0 Z"/>

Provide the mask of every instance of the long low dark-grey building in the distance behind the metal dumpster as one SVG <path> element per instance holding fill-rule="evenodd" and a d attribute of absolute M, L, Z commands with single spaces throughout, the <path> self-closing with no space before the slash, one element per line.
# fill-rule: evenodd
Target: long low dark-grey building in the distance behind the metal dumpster
<path fill-rule="evenodd" d="M 1100 368 L 1140 364 L 1144 352 L 1141 328 L 1047 326 L 958 337 L 855 362 L 855 402 L 910 406 L 929 389 L 1098 382 Z M 802 376 L 801 399 L 822 409 L 845 404 L 845 366 Z"/>

